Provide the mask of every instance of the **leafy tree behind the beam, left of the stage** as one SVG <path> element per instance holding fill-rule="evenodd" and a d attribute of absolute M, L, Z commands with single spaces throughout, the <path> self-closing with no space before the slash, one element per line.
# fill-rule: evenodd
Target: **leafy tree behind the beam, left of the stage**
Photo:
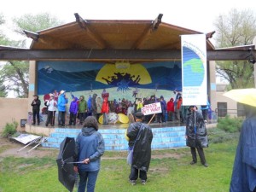
<path fill-rule="evenodd" d="M 57 20 L 55 16 L 51 16 L 48 13 L 43 13 L 38 15 L 23 15 L 19 18 L 14 18 L 13 22 L 15 23 L 15 32 L 25 36 L 23 30 L 38 32 L 49 27 L 60 25 L 62 21 Z M 20 41 L 10 41 L 8 38 L 3 37 L 3 40 L 0 38 L 0 43 L 15 47 L 26 47 L 26 38 L 24 37 L 24 39 Z M 29 84 L 28 75 L 28 61 L 8 61 L 0 69 L 0 82 L 5 83 L 3 90 L 13 90 L 18 97 L 27 97 Z"/>

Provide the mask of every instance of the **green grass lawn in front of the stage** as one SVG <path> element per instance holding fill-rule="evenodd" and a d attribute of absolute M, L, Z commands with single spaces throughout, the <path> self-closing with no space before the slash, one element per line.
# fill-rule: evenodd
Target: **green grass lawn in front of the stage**
<path fill-rule="evenodd" d="M 201 166 L 200 162 L 195 166 L 189 165 L 189 148 L 154 150 L 154 159 L 151 160 L 148 171 L 148 183 L 137 183 L 135 186 L 128 183 L 130 167 L 126 164 L 126 153 L 106 152 L 96 191 L 229 191 L 236 144 L 237 138 L 225 143 L 210 143 L 209 148 L 205 148 L 209 164 L 207 168 Z M 58 181 L 55 158 L 55 155 L 44 158 L 3 158 L 0 164 L 0 191 L 67 191 Z"/>

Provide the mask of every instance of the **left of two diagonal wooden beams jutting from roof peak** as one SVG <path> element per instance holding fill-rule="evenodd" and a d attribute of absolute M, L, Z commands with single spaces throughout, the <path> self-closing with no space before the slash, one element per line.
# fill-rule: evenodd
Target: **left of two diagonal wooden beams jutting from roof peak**
<path fill-rule="evenodd" d="M 106 49 L 108 45 L 94 30 L 91 29 L 89 22 L 87 22 L 87 20 L 84 20 L 78 13 L 74 15 L 76 17 L 76 21 L 79 23 L 79 26 L 82 29 L 84 29 L 86 34 L 90 38 L 92 38 L 92 40 L 95 41 L 96 44 L 98 44 L 101 49 Z"/>

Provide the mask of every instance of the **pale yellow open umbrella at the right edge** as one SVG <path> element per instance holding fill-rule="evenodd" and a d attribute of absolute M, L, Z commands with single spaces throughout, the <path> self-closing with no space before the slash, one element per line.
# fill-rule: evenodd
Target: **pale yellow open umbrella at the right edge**
<path fill-rule="evenodd" d="M 237 89 L 230 90 L 224 93 L 224 96 L 229 97 L 230 99 L 241 102 L 246 105 L 256 107 L 256 89 Z"/>

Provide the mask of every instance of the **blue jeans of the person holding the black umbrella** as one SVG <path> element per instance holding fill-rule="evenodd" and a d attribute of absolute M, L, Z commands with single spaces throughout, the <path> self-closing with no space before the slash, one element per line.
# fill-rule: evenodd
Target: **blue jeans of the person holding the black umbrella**
<path fill-rule="evenodd" d="M 87 192 L 94 192 L 99 170 L 96 172 L 86 172 L 79 170 L 79 189 L 78 192 L 84 192 L 87 184 Z"/>

